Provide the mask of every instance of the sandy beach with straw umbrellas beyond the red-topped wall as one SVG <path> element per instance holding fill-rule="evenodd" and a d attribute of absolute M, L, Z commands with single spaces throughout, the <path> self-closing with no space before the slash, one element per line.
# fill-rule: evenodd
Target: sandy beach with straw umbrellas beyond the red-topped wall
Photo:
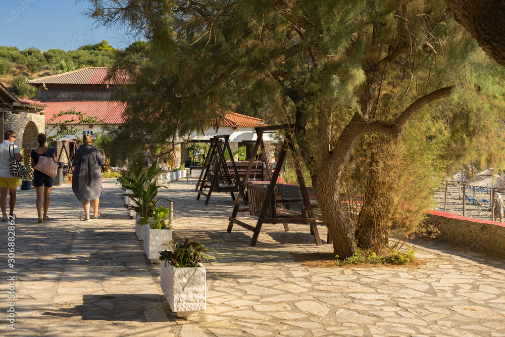
<path fill-rule="evenodd" d="M 446 212 L 451 213 L 451 214 L 456 214 L 456 215 L 463 215 L 463 188 L 461 189 L 461 192 L 458 192 L 458 186 L 451 186 L 448 185 L 447 188 L 452 192 L 449 192 L 447 190 L 447 202 L 446 202 Z M 473 199 L 474 196 L 474 191 L 473 187 L 467 186 L 465 193 L 467 197 Z M 484 192 L 483 190 L 476 189 L 475 190 L 475 197 L 479 199 L 485 199 L 485 200 L 490 200 L 490 194 L 489 191 Z M 505 198 L 505 194 L 502 195 L 502 198 Z M 436 206 L 438 206 L 438 209 L 440 211 L 443 211 L 444 208 L 444 192 L 443 191 L 437 191 L 435 193 L 435 203 Z M 465 216 L 469 218 L 476 218 L 476 219 L 484 219 L 484 220 L 491 220 L 491 210 L 490 208 L 483 208 L 482 206 L 476 204 L 476 203 L 471 203 L 468 200 L 465 203 Z M 499 221 L 499 219 L 498 219 Z M 505 219 L 503 219 L 505 222 Z"/>

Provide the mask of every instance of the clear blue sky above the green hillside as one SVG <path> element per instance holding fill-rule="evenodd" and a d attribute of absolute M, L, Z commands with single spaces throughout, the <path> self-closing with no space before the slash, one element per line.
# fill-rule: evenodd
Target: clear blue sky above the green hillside
<path fill-rule="evenodd" d="M 104 39 L 118 49 L 133 42 L 114 29 L 93 28 L 81 14 L 85 6 L 74 0 L 0 0 L 0 45 L 68 51 Z"/>

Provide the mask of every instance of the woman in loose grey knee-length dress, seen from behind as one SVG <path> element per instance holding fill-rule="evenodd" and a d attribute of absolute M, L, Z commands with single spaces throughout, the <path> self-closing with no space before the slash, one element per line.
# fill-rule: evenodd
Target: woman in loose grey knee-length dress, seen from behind
<path fill-rule="evenodd" d="M 85 221 L 89 220 L 89 202 L 93 205 L 93 218 L 102 216 L 98 212 L 98 202 L 102 192 L 102 171 L 100 165 L 105 164 L 105 158 L 100 151 L 91 146 L 91 136 L 82 136 L 84 144 L 75 152 L 72 162 L 72 190 L 77 199 L 82 202 Z"/>

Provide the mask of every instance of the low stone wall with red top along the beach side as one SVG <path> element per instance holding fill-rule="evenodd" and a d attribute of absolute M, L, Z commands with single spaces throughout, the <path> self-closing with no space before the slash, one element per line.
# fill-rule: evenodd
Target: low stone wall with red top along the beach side
<path fill-rule="evenodd" d="M 438 228 L 442 241 L 505 257 L 505 223 L 440 211 L 430 211 L 426 222 Z"/>

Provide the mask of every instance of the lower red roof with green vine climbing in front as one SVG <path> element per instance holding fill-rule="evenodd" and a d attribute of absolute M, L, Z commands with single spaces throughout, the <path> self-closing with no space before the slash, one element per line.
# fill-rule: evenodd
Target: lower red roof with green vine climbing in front
<path fill-rule="evenodd" d="M 84 102 L 44 102 L 45 122 L 61 111 L 74 109 L 82 112 L 87 117 L 98 117 L 99 124 L 121 124 L 123 123 L 123 102 L 117 101 L 84 101 Z M 68 120 L 69 116 L 60 116 L 51 123 L 58 123 Z"/>

